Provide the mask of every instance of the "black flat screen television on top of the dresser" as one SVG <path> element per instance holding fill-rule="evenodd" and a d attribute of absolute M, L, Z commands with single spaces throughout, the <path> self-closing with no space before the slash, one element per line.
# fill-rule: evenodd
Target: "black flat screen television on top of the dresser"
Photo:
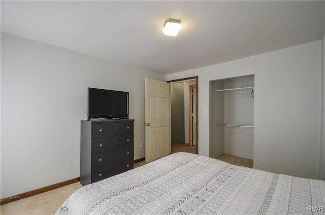
<path fill-rule="evenodd" d="M 88 88 L 88 119 L 128 119 L 128 92 Z"/>

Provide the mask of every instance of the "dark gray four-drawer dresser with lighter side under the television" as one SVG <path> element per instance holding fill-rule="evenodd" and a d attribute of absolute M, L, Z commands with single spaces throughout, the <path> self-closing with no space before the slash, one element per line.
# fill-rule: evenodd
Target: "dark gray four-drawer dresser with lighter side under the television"
<path fill-rule="evenodd" d="M 81 121 L 80 183 L 134 167 L 134 120 Z"/>

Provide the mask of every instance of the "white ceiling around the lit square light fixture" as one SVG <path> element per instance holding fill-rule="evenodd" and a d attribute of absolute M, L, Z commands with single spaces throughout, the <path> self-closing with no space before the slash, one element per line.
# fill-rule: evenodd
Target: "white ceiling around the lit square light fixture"
<path fill-rule="evenodd" d="M 1 1 L 1 31 L 170 74 L 319 40 L 324 13 L 324 1 Z"/>

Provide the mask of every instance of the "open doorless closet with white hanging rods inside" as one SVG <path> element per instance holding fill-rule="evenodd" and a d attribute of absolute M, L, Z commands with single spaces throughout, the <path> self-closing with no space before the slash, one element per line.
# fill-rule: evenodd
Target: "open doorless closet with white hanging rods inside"
<path fill-rule="evenodd" d="M 210 81 L 210 157 L 253 168 L 254 76 Z"/>

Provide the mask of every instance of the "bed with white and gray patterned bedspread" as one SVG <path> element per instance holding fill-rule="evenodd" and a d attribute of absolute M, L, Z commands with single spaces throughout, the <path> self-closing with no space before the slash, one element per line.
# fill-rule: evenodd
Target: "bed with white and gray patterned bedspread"
<path fill-rule="evenodd" d="M 75 191 L 56 214 L 324 214 L 325 181 L 175 153 Z"/>

